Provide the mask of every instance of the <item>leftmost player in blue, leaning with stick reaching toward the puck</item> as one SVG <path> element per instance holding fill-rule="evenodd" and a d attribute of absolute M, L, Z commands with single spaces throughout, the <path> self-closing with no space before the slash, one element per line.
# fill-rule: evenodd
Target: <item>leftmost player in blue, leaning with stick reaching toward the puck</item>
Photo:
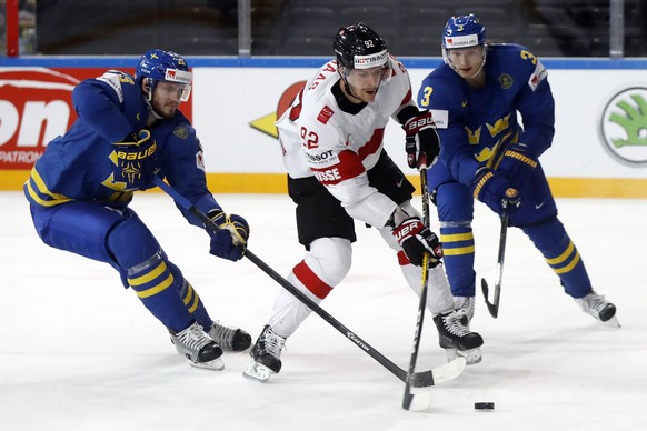
<path fill-rule="evenodd" d="M 191 72 L 185 59 L 159 49 L 140 59 L 135 77 L 109 70 L 72 92 L 79 118 L 52 140 L 24 186 L 42 241 L 112 265 L 126 288 L 168 329 L 190 364 L 221 370 L 222 351 L 242 351 L 249 333 L 213 321 L 193 287 L 128 207 L 155 176 L 208 213 L 220 227 L 210 253 L 242 258 L 249 225 L 222 211 L 206 184 L 202 148 L 178 110 L 188 100 Z M 205 225 L 190 213 L 187 220 Z"/>

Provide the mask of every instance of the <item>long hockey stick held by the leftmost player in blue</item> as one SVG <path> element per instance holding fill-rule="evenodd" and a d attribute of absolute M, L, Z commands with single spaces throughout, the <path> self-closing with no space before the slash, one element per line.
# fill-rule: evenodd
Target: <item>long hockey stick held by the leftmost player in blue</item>
<path fill-rule="evenodd" d="M 212 230 L 218 231 L 219 228 L 207 214 L 197 209 L 187 198 L 178 193 L 172 187 L 167 184 L 161 178 L 156 177 L 153 179 L 156 186 L 162 189 L 167 194 L 169 194 L 176 203 L 183 208 L 189 213 L 193 214 L 198 220 L 200 220 L 205 225 Z M 256 254 L 253 254 L 249 249 L 246 250 L 245 257 L 249 259 L 253 264 L 256 264 L 266 274 L 278 282 L 283 289 L 293 294 L 299 301 L 305 303 L 310 310 L 318 314 L 321 319 L 327 321 L 332 328 L 341 332 L 347 339 L 352 341 L 359 349 L 365 351 L 368 355 L 379 362 L 384 368 L 389 370 L 402 382 L 407 379 L 407 372 L 382 355 L 380 352 L 375 350 L 369 343 L 364 341 L 355 332 L 346 328 L 341 322 L 330 315 L 326 310 L 319 307 L 316 302 L 306 297 L 301 291 L 295 288 L 288 280 L 282 278 L 278 272 L 271 269 L 267 263 L 260 260 Z M 458 358 L 451 362 L 437 367 L 432 370 L 417 372 L 410 378 L 410 384 L 414 388 L 425 388 L 431 387 L 434 384 L 445 383 L 449 380 L 456 379 L 465 370 L 465 359 Z"/>

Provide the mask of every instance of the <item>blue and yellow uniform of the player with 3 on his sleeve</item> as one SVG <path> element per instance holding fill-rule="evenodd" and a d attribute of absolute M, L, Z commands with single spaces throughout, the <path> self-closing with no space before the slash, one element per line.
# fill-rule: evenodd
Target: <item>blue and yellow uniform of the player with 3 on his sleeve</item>
<path fill-rule="evenodd" d="M 475 294 L 470 184 L 477 170 L 488 167 L 496 171 L 506 150 L 517 143 L 527 146 L 536 160 L 550 148 L 555 133 L 555 102 L 547 72 L 527 48 L 488 46 L 484 71 L 485 86 L 475 89 L 449 64 L 442 64 L 425 78 L 418 93 L 418 106 L 432 112 L 440 138 L 439 161 L 428 170 L 428 180 L 455 297 Z M 514 178 L 501 173 L 515 186 Z M 510 225 L 520 228 L 530 238 L 569 295 L 584 297 L 591 291 L 590 281 L 577 249 L 557 219 L 540 163 L 537 162 L 534 176 L 519 187 L 519 192 L 521 203 L 511 212 Z"/>

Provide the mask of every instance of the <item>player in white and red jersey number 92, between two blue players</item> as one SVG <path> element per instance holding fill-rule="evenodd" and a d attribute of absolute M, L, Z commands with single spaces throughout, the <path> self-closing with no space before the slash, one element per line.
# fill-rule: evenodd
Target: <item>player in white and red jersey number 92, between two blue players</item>
<path fill-rule="evenodd" d="M 354 219 L 375 227 L 397 252 L 416 292 L 424 254 L 431 254 L 428 309 L 440 345 L 478 362 L 482 339 L 469 332 L 455 311 L 438 238 L 410 202 L 414 186 L 384 150 L 385 127 L 392 117 L 419 138 L 432 160 L 438 153 L 432 124 L 427 124 L 426 133 L 416 129 L 418 123 L 424 128 L 426 118 L 418 121 L 409 74 L 368 26 L 340 29 L 334 50 L 336 58 L 315 73 L 277 122 L 289 194 L 297 204 L 299 242 L 307 250 L 288 280 L 320 303 L 350 269 Z M 278 373 L 286 339 L 309 313 L 291 293 L 279 293 L 245 375 L 267 381 Z"/>

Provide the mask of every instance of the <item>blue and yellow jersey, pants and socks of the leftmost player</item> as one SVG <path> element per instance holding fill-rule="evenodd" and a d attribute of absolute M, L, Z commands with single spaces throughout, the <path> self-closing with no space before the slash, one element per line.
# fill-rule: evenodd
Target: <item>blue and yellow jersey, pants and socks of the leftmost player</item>
<path fill-rule="evenodd" d="M 132 288 L 166 327 L 179 331 L 198 321 L 211 328 L 192 287 L 128 207 L 136 190 L 155 184 L 116 177 L 115 143 L 146 128 L 152 142 L 149 169 L 201 211 L 220 210 L 207 189 L 195 129 L 179 110 L 147 127 L 151 108 L 141 83 L 120 71 L 82 81 L 72 101 L 78 119 L 64 136 L 49 142 L 24 184 L 39 237 L 53 248 L 112 265 L 123 285 Z M 189 222 L 203 227 L 181 211 Z"/>

